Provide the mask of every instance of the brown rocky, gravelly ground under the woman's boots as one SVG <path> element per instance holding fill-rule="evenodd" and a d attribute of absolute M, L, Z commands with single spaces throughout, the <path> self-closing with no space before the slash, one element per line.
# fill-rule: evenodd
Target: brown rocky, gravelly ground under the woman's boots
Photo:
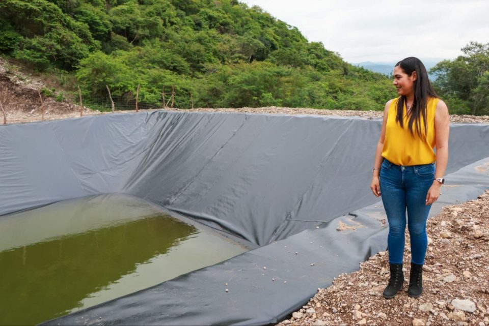
<path fill-rule="evenodd" d="M 282 325 L 489 325 L 489 190 L 476 200 L 446 206 L 428 219 L 423 294 L 408 297 L 406 233 L 404 291 L 386 300 L 387 252 L 338 276 Z"/>

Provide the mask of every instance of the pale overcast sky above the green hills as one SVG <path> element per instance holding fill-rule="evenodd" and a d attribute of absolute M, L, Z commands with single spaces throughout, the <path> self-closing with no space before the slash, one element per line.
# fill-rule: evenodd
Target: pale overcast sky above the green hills
<path fill-rule="evenodd" d="M 487 0 L 241 0 L 296 26 L 349 63 L 452 59 L 489 42 Z"/>

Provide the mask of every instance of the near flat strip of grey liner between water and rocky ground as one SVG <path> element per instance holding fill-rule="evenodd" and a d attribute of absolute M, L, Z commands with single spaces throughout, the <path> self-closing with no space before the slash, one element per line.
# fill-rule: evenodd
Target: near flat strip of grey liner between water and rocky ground
<path fill-rule="evenodd" d="M 443 189 L 444 201 L 433 205 L 430 216 L 487 189 L 489 157 L 447 179 L 454 182 Z M 285 240 L 44 324 L 277 323 L 302 308 L 318 287 L 331 285 L 335 276 L 358 270 L 361 261 L 385 250 L 388 226 L 382 226 L 382 220 L 382 202 L 376 202 Z"/>

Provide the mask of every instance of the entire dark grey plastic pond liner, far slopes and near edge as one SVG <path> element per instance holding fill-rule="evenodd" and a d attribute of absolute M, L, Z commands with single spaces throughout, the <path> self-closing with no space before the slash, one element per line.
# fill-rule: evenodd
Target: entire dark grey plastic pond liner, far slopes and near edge
<path fill-rule="evenodd" d="M 124 193 L 260 246 L 45 324 L 275 323 L 386 249 L 369 189 L 381 124 L 153 111 L 6 126 L 0 215 Z M 451 125 L 447 186 L 431 215 L 489 188 L 488 143 L 489 125 Z"/>

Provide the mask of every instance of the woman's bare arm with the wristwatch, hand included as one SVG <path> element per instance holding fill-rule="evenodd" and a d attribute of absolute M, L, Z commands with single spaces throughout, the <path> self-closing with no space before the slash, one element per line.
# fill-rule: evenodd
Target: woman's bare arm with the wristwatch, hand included
<path fill-rule="evenodd" d="M 450 133 L 450 115 L 445 102 L 438 101 L 434 114 L 434 135 L 437 146 L 437 165 L 434 177 L 440 178 L 445 175 L 448 163 L 448 134 Z M 440 197 L 442 184 L 433 180 L 433 184 L 426 194 L 426 205 L 432 204 Z"/>

